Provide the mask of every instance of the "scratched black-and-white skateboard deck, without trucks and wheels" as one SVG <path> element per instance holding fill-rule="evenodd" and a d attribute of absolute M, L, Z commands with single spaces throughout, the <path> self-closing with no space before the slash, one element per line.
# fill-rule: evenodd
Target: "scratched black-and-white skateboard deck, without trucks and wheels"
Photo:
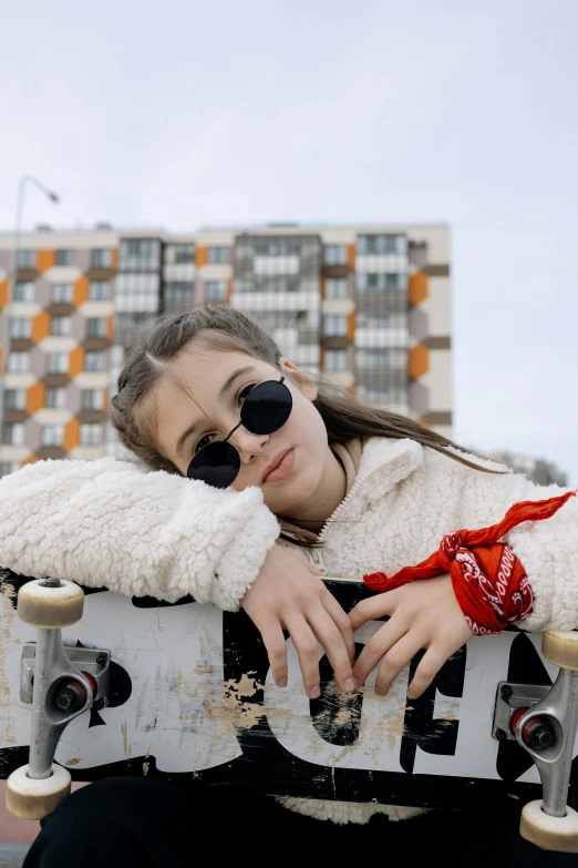
<path fill-rule="evenodd" d="M 22 656 L 37 631 L 16 611 L 28 580 L 7 570 L 0 576 L 0 778 L 7 778 L 28 763 L 32 706 L 21 698 Z M 345 611 L 371 593 L 360 582 L 327 584 Z M 541 634 L 513 629 L 472 639 L 412 701 L 406 687 L 420 656 L 388 696 L 375 695 L 375 672 L 344 696 L 320 649 L 321 696 L 310 701 L 291 640 L 288 686 L 279 688 L 244 612 L 190 598 L 167 604 L 84 591 L 82 620 L 62 635 L 70 649 L 110 652 L 109 686 L 104 701 L 73 719 L 59 741 L 55 763 L 73 780 L 148 775 L 452 809 L 519 807 L 540 796 L 528 754 L 493 734 L 500 682 L 549 686 L 556 678 L 558 668 L 540 654 Z M 380 626 L 374 621 L 358 631 L 358 652 Z"/>

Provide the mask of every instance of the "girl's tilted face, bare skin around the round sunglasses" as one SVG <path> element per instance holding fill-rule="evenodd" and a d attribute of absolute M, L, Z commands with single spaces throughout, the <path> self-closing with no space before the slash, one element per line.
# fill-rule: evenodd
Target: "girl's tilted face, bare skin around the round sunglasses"
<path fill-rule="evenodd" d="M 292 507 L 298 509 L 319 489 L 334 456 L 312 404 L 314 386 L 290 361 L 281 359 L 281 365 L 293 399 L 287 422 L 272 435 L 252 435 L 240 426 L 229 442 L 238 449 L 241 462 L 233 488 L 242 491 L 257 486 L 272 512 L 290 517 Z M 251 388 L 280 377 L 279 368 L 245 353 L 194 345 L 171 366 L 152 395 L 157 448 L 186 476 L 198 449 L 224 439 L 239 422 Z"/>

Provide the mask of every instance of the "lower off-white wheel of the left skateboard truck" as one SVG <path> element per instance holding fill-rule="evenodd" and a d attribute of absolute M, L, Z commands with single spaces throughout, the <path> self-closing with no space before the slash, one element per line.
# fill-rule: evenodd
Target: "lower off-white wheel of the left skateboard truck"
<path fill-rule="evenodd" d="M 20 766 L 7 780 L 8 810 L 20 819 L 42 819 L 70 795 L 70 780 L 62 766 L 52 766 L 52 775 L 42 780 L 29 777 L 28 766 Z"/>

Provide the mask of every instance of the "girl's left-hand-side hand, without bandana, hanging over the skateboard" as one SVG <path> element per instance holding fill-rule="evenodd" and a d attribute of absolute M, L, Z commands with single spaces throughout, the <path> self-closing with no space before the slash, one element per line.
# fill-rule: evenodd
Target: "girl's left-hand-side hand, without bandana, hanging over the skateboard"
<path fill-rule="evenodd" d="M 279 687 L 287 685 L 287 647 L 282 631 L 289 631 L 311 699 L 320 695 L 318 640 L 341 690 L 351 693 L 357 686 L 351 671 L 355 655 L 351 622 L 319 575 L 300 552 L 273 545 L 241 600 L 241 606 L 260 631 Z"/>

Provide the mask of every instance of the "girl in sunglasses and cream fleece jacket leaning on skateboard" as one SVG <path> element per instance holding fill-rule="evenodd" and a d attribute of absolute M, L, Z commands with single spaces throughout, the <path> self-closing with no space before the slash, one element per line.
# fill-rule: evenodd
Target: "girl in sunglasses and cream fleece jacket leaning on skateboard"
<path fill-rule="evenodd" d="M 402 573 L 395 590 L 359 604 L 348 617 L 324 590 L 320 572 L 392 573 L 422 561 L 458 529 L 493 525 L 519 501 L 562 492 L 537 490 L 409 419 L 318 392 L 236 310 L 209 306 L 161 320 L 125 365 L 113 405 L 122 442 L 157 472 L 102 459 L 39 462 L 6 478 L 0 483 L 3 565 L 127 594 L 174 601 L 190 593 L 224 609 L 242 605 L 264 636 L 280 686 L 287 680 L 282 630 L 289 631 L 312 698 L 319 696 L 317 640 L 344 692 L 380 664 L 376 692 L 385 694 L 404 665 L 426 649 L 409 688 L 416 697 L 473 632 L 497 632 L 522 620 L 531 630 L 578 625 L 578 508 L 570 492 L 551 501 L 546 520 L 533 506 L 522 515 L 531 521 L 514 521 L 507 533 L 500 525 L 494 538 L 477 540 L 491 543 L 486 548 L 498 563 L 504 552 L 515 563 L 504 599 L 496 596 L 492 564 L 483 553 L 472 554 L 464 535 L 454 534 L 445 539 L 441 566 L 433 569 L 442 574 L 395 586 L 407 578 Z M 504 534 L 509 548 L 498 542 Z M 476 569 L 476 581 L 468 582 Z M 460 570 L 463 582 L 456 579 Z M 391 586 L 380 575 L 371 581 Z M 475 585 L 477 596 L 466 599 L 465 584 Z M 353 665 L 353 629 L 384 614 L 390 620 Z M 86 787 L 47 819 L 27 868 L 89 867 L 96 855 L 101 864 L 103 852 L 112 865 L 186 865 L 185 816 L 216 834 L 235 834 L 249 817 L 255 823 L 255 803 L 240 808 L 227 798 L 213 794 L 200 804 L 176 785 L 146 779 Z M 295 813 L 283 813 L 286 807 Z M 369 833 L 378 840 L 386 831 L 390 844 L 403 834 L 391 820 L 424 814 L 292 798 L 261 799 L 259 811 L 259 836 L 262 828 L 271 841 L 293 833 L 287 847 L 283 835 L 287 852 L 293 852 L 312 817 L 348 824 L 332 827 L 323 845 L 326 855 L 340 856 L 357 841 L 351 824 L 371 818 Z M 97 851 L 100 823 L 91 825 L 96 814 L 114 825 L 105 844 L 99 836 Z M 441 811 L 419 816 L 412 840 L 426 841 L 423 854 L 431 858 L 435 830 L 447 864 L 477 864 L 478 850 L 474 846 L 464 857 L 463 841 L 475 840 L 479 824 L 463 815 L 455 819 Z M 426 834 L 417 835 L 420 826 Z M 444 837 L 442 845 L 448 829 L 452 843 Z M 540 861 L 539 851 L 518 839 L 516 821 L 495 823 L 493 834 L 508 861 L 515 852 L 531 865 L 574 864 L 574 857 L 550 854 Z M 197 841 L 198 836 L 198 854 Z M 145 856 L 147 849 L 154 856 Z M 209 844 L 200 851 L 208 855 Z"/>

